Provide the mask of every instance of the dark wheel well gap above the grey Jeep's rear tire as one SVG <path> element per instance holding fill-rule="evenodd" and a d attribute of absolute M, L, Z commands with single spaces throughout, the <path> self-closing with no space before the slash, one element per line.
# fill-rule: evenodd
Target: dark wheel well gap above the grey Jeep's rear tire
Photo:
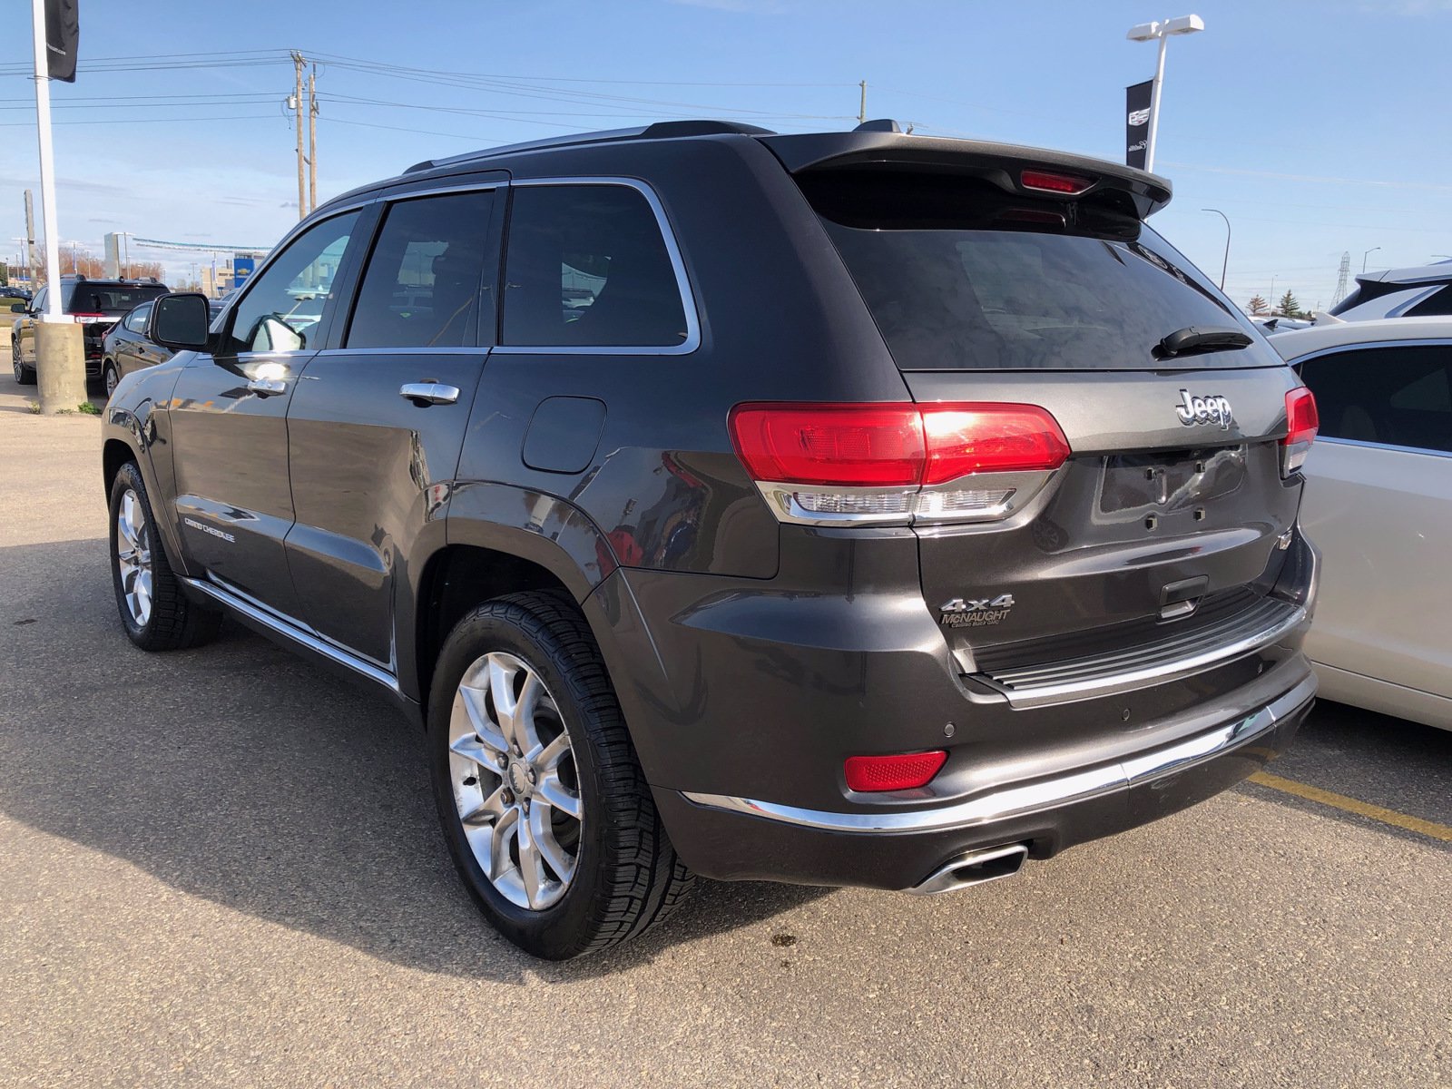
<path fill-rule="evenodd" d="M 414 645 L 418 690 L 425 704 L 434 662 L 453 626 L 475 605 L 526 590 L 559 590 L 575 600 L 547 568 L 508 552 L 450 544 L 428 560 L 418 588 Z"/>

